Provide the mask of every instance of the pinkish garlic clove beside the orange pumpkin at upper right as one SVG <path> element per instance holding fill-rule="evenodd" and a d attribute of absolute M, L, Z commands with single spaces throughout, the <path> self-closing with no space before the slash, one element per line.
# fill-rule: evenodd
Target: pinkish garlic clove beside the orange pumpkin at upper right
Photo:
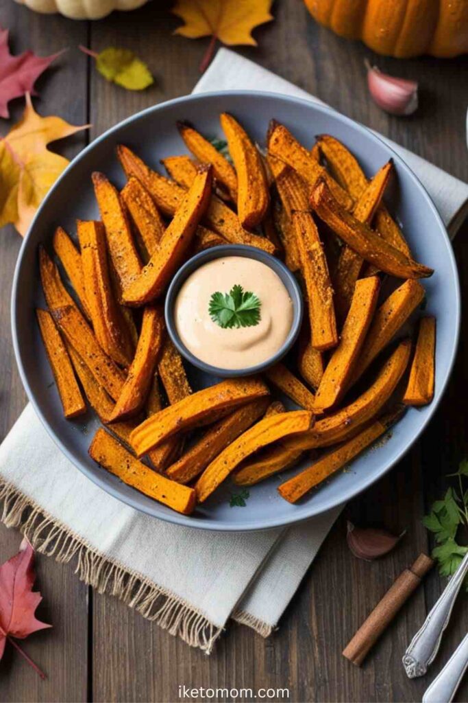
<path fill-rule="evenodd" d="M 417 109 L 417 82 L 382 73 L 366 60 L 370 95 L 382 110 L 392 115 L 411 115 Z"/>

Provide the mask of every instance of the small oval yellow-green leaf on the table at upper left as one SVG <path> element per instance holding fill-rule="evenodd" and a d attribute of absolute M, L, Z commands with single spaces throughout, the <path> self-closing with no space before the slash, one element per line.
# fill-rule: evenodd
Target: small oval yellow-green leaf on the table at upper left
<path fill-rule="evenodd" d="M 144 90 L 154 83 L 147 65 L 129 49 L 109 46 L 98 54 L 96 68 L 105 79 L 127 90 Z"/>

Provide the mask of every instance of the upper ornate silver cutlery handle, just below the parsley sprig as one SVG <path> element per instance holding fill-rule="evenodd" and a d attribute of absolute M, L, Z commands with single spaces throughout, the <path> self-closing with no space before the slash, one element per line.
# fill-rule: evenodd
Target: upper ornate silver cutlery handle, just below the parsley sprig
<path fill-rule="evenodd" d="M 410 646 L 403 656 L 403 666 L 409 678 L 424 676 L 427 667 L 433 662 L 441 644 L 443 631 L 450 620 L 453 604 L 467 572 L 468 552 L 464 555 L 460 566 L 448 582 L 448 586 L 425 619 L 422 628 L 411 640 Z"/>

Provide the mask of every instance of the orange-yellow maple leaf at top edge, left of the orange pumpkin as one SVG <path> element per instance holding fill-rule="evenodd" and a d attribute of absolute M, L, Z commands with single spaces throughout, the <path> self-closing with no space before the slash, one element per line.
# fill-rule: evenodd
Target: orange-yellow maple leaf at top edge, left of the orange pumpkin
<path fill-rule="evenodd" d="M 201 61 L 203 71 L 210 63 L 216 39 L 223 44 L 257 46 L 252 30 L 273 19 L 272 0 L 176 0 L 172 12 L 184 20 L 175 34 L 189 39 L 211 37 L 208 51 Z"/>

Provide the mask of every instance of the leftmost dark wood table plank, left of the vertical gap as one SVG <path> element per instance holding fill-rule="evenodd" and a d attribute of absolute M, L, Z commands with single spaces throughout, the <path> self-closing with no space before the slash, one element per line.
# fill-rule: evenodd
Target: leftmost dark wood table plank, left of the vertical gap
<path fill-rule="evenodd" d="M 20 53 L 34 49 L 41 55 L 69 47 L 68 55 L 38 81 L 40 98 L 34 106 L 43 115 L 58 114 L 75 124 L 86 122 L 86 65 L 76 63 L 76 45 L 86 41 L 86 23 L 76 23 L 55 16 L 37 15 L 13 2 L 2 3 L 0 24 L 11 30 L 11 49 Z M 72 53 L 73 52 L 73 53 Z M 73 58 L 72 58 L 73 56 Z M 1 134 L 22 114 L 24 100 L 11 103 L 12 119 L 1 122 Z M 58 150 L 72 157 L 86 143 L 77 135 L 60 144 Z M 55 148 L 55 145 L 54 145 Z M 16 368 L 10 331 L 10 292 L 13 269 L 21 239 L 13 228 L 6 227 L 0 236 L 0 437 L 4 437 L 26 403 Z M 32 467 L 34 470 L 34 467 Z M 21 536 L 16 530 L 0 525 L 0 562 L 18 551 Z M 85 701 L 87 697 L 88 588 L 68 565 L 38 556 L 37 586 L 44 595 L 39 617 L 53 624 L 52 630 L 25 640 L 25 650 L 46 672 L 41 681 L 11 645 L 0 663 L 0 700 Z"/>

